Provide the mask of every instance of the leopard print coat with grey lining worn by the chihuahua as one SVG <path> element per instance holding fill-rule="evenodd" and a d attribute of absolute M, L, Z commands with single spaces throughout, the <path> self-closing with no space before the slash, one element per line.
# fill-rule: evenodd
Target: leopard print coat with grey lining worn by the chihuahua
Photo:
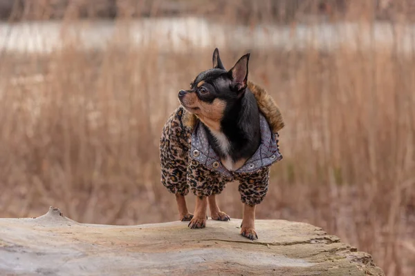
<path fill-rule="evenodd" d="M 230 181 L 239 181 L 243 204 L 261 203 L 268 191 L 270 166 L 282 159 L 278 132 L 284 126 L 279 108 L 265 90 L 248 83 L 260 115 L 261 145 L 246 163 L 227 170 L 208 143 L 205 127 L 183 107 L 167 120 L 160 139 L 161 182 L 170 193 L 205 197 L 218 195 Z"/>

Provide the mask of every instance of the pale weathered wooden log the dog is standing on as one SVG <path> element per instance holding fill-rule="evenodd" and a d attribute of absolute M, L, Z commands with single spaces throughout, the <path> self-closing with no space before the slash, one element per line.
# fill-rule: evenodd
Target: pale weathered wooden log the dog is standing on
<path fill-rule="evenodd" d="M 59 209 L 0 219 L 0 275 L 385 275 L 367 253 L 310 224 L 240 219 L 139 226 L 80 224 Z"/>

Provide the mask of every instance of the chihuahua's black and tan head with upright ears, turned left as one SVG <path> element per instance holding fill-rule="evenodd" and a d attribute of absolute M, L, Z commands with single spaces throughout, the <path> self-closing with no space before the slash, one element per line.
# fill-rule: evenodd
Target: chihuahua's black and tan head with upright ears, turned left
<path fill-rule="evenodd" d="M 213 130 L 220 130 L 225 110 L 229 110 L 246 91 L 250 54 L 243 55 L 232 69 L 225 70 L 219 50 L 213 52 L 213 68 L 201 72 L 190 83 L 190 90 L 180 90 L 178 99 L 189 112 Z"/>

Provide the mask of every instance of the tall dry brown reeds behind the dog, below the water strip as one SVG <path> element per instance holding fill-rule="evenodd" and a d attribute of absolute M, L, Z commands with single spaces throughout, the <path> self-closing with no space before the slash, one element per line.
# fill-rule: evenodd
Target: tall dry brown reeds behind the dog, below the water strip
<path fill-rule="evenodd" d="M 284 159 L 257 217 L 308 221 L 371 253 L 387 275 L 412 275 L 415 51 L 398 55 L 399 43 L 251 51 L 250 79 L 272 92 L 286 119 Z M 89 223 L 177 219 L 174 196 L 160 184 L 158 139 L 177 90 L 210 67 L 213 48 L 161 55 L 122 36 L 102 52 L 79 45 L 1 53 L 0 216 L 55 205 Z M 243 52 L 221 49 L 225 66 Z M 237 185 L 219 200 L 241 217 Z"/>

